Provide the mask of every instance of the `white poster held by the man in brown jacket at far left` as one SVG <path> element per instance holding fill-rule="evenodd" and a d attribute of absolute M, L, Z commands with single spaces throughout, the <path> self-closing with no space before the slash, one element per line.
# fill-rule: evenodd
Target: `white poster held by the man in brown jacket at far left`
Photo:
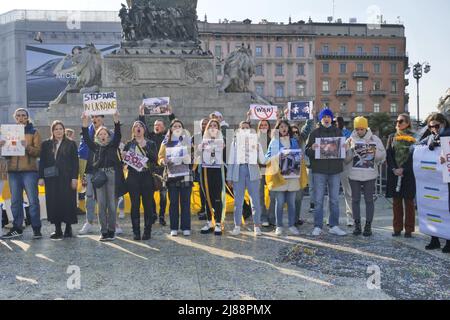
<path fill-rule="evenodd" d="M 5 141 L 1 155 L 3 157 L 25 156 L 25 147 L 22 145 L 22 141 L 25 140 L 25 127 L 19 124 L 2 124 L 0 130 L 0 140 Z"/>

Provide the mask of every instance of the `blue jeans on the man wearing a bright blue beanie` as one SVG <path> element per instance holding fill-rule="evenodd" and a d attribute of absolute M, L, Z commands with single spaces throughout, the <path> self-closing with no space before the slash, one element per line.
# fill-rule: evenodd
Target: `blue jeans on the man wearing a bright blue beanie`
<path fill-rule="evenodd" d="M 339 225 L 339 188 L 341 185 L 340 174 L 320 174 L 314 173 L 314 227 L 323 228 L 323 201 L 326 188 L 328 186 L 328 196 L 330 198 L 330 219 L 331 227 Z"/>

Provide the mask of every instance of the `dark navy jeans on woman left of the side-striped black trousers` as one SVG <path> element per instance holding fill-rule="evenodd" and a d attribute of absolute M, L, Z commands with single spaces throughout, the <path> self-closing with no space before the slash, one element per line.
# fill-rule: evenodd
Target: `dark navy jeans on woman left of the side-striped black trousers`
<path fill-rule="evenodd" d="M 181 231 L 191 231 L 191 193 L 192 187 L 169 186 L 169 216 L 170 230 L 178 231 L 180 228 L 181 207 Z"/>

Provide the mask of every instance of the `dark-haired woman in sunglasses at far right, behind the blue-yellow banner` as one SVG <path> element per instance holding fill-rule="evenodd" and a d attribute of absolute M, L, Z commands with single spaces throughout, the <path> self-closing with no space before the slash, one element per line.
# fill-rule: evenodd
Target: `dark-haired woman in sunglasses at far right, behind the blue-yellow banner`
<path fill-rule="evenodd" d="M 427 118 L 428 124 L 428 132 L 429 136 L 424 137 L 424 139 L 420 142 L 421 145 L 426 145 L 430 149 L 430 151 L 434 151 L 436 148 L 441 147 L 441 137 L 449 137 L 450 136 L 450 124 L 448 123 L 445 116 L 441 113 L 433 113 Z M 445 164 L 447 162 L 446 156 L 441 156 L 441 164 Z M 445 170 L 448 170 L 445 167 Z M 450 190 L 450 184 L 449 188 Z M 448 192 L 448 191 L 447 191 Z M 450 197 L 449 197 L 450 202 Z M 450 208 L 450 204 L 449 204 Z M 420 210 L 420 206 L 419 206 Z M 430 243 L 425 247 L 426 250 L 436 250 L 441 248 L 441 242 L 438 237 L 431 236 Z M 446 239 L 446 244 L 442 249 L 443 253 L 450 253 L 450 235 L 449 238 Z"/>

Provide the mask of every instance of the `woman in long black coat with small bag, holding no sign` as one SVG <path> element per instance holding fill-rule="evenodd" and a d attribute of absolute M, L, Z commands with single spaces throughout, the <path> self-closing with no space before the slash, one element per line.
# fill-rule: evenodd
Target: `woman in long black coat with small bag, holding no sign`
<path fill-rule="evenodd" d="M 55 225 L 53 240 L 72 237 L 77 224 L 78 149 L 65 136 L 64 124 L 53 122 L 52 136 L 42 143 L 39 161 L 39 185 L 45 185 L 48 221 Z M 66 224 L 63 234 L 61 225 Z"/>

